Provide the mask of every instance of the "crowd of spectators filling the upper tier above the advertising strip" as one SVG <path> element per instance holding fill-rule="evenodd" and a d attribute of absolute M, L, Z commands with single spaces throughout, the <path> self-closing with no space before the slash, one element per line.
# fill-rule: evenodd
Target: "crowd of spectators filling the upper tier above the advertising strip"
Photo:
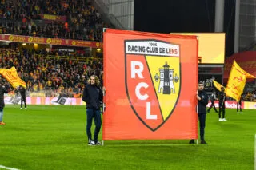
<path fill-rule="evenodd" d="M 46 22 L 43 14 L 64 16 L 66 21 Z M 1 0 L 0 19 L 0 34 L 100 42 L 102 28 L 109 27 L 86 0 Z"/>

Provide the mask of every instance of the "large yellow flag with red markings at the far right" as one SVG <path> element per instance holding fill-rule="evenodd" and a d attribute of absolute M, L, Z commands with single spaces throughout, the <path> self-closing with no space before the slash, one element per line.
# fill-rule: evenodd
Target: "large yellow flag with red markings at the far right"
<path fill-rule="evenodd" d="M 250 75 L 250 73 L 246 73 L 246 71 L 234 61 L 226 85 L 226 95 L 239 101 L 246 85 L 246 77 L 253 78 L 254 76 Z"/>

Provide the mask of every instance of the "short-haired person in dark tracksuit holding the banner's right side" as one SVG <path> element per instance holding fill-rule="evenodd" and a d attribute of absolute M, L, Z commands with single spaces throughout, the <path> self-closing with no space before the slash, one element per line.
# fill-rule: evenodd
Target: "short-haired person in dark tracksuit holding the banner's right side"
<path fill-rule="evenodd" d="M 198 83 L 198 119 L 200 124 L 200 139 L 201 144 L 206 144 L 205 141 L 205 127 L 206 127 L 206 105 L 208 104 L 208 95 L 206 91 L 203 90 L 203 83 Z M 190 144 L 194 144 L 194 140 L 190 140 Z"/>

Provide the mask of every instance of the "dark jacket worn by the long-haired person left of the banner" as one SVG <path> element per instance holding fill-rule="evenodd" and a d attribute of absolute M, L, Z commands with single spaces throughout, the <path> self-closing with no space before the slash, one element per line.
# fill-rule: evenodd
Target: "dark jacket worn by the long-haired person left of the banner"
<path fill-rule="evenodd" d="M 102 89 L 97 85 L 87 84 L 82 94 L 82 101 L 86 102 L 86 108 L 100 109 L 102 100 Z"/>

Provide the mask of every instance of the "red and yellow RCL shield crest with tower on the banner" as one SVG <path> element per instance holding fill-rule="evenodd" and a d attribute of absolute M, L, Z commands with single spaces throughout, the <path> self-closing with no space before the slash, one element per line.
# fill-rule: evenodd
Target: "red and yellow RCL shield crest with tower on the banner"
<path fill-rule="evenodd" d="M 180 93 L 179 45 L 126 41 L 126 93 L 135 115 L 152 131 L 174 111 Z"/>

